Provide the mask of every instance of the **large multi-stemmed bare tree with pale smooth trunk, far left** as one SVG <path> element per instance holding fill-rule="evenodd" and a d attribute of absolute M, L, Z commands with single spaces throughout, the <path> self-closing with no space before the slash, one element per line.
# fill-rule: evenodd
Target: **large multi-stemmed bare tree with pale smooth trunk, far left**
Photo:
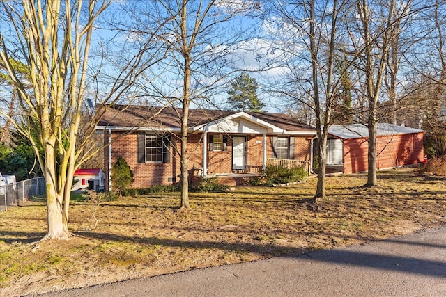
<path fill-rule="evenodd" d="M 93 24 L 111 3 L 24 0 L 0 4 L 0 68 L 10 77 L 23 115 L 10 120 L 15 120 L 15 129 L 31 141 L 46 182 L 44 239 L 67 239 L 70 235 L 68 209 L 74 172 L 100 150 L 91 145 L 95 124 L 107 103 L 124 95 L 141 67 L 146 67 L 146 63 L 141 66 L 141 55 L 130 58 L 117 71 L 114 81 L 109 81 L 106 93 L 99 95 L 99 88 L 96 90 L 95 98 L 102 103 L 102 109 L 91 121 L 82 121 Z M 150 43 L 149 40 L 145 46 Z M 25 65 L 29 79 L 24 80 L 11 61 Z M 93 74 L 93 79 L 97 79 L 97 74 Z M 81 141 L 80 129 L 85 134 Z M 43 155 L 39 154 L 42 150 Z"/>

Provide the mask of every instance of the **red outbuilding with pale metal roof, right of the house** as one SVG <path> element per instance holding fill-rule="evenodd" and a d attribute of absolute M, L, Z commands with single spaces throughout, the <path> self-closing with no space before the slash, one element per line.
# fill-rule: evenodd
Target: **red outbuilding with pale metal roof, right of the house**
<path fill-rule="evenodd" d="M 339 166 L 344 173 L 368 170 L 366 125 L 332 125 L 327 147 L 327 165 Z M 397 168 L 424 160 L 424 131 L 387 123 L 378 123 L 376 137 L 376 167 Z"/>

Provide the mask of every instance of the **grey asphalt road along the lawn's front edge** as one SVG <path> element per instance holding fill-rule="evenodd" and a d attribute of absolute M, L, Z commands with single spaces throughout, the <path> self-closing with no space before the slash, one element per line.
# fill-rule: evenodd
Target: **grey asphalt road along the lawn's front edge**
<path fill-rule="evenodd" d="M 446 296 L 446 227 L 43 296 Z"/>

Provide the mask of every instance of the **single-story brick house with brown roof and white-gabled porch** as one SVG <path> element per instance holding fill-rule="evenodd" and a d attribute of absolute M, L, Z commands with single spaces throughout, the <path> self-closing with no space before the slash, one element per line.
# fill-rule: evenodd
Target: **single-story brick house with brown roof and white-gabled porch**
<path fill-rule="evenodd" d="M 107 106 L 96 129 L 105 135 L 105 190 L 119 157 L 134 174 L 133 188 L 180 182 L 182 109 Z M 316 129 L 281 113 L 190 109 L 187 154 L 192 175 L 259 172 L 278 163 L 312 168 Z M 232 181 L 228 184 L 239 184 Z"/>

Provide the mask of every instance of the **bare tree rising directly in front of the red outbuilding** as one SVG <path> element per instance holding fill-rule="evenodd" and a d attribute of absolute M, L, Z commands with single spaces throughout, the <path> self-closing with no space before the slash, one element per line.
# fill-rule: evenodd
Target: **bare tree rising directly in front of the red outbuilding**
<path fill-rule="evenodd" d="M 371 2 L 371 3 L 369 3 Z M 397 43 L 401 20 L 410 13 L 411 1 L 398 3 L 391 0 L 380 1 L 358 0 L 356 3 L 359 22 L 355 24 L 358 35 L 352 34 L 355 48 L 364 53 L 360 60 L 364 70 L 364 97 L 368 103 L 367 127 L 368 137 L 368 175 L 366 186 L 375 186 L 376 179 L 376 127 L 378 123 L 378 106 L 380 102 L 385 67 L 392 46 L 394 56 L 390 60 L 393 72 L 397 72 Z M 353 28 L 351 26 L 351 28 Z M 392 41 L 393 40 L 393 41 Z M 359 42 L 358 42 L 359 41 Z M 393 61 L 393 62 L 392 62 Z M 392 99 L 395 99 L 392 97 Z"/>

